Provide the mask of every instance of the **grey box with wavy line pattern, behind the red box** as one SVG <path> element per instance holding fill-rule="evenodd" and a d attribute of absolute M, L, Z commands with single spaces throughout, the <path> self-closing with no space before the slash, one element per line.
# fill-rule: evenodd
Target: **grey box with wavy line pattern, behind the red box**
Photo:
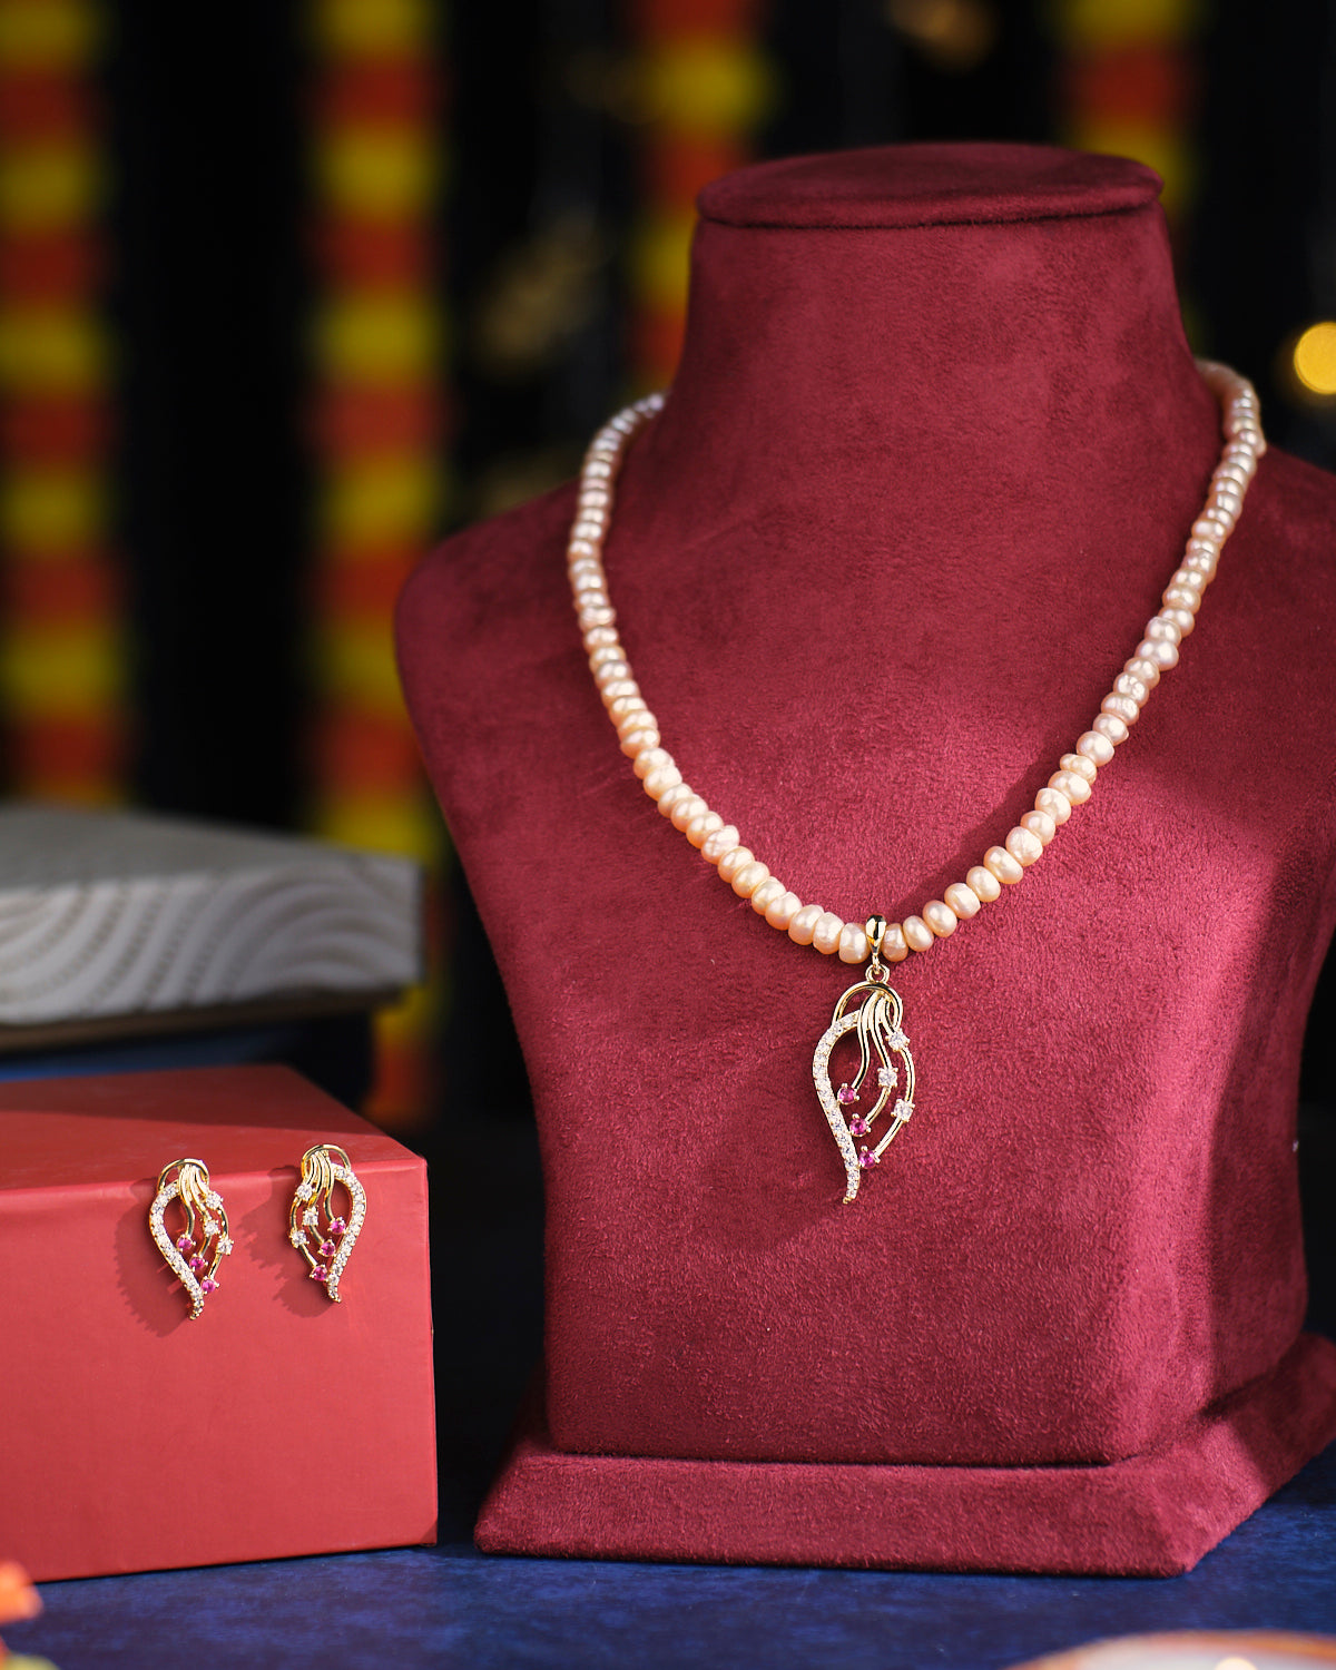
<path fill-rule="evenodd" d="M 127 812 L 0 807 L 0 1032 L 354 1007 L 421 979 L 407 858 Z"/>

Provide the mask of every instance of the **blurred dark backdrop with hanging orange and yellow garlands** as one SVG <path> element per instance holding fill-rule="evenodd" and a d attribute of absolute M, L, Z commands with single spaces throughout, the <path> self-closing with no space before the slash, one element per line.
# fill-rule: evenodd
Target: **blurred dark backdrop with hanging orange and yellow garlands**
<path fill-rule="evenodd" d="M 700 185 L 888 140 L 1152 164 L 1194 346 L 1331 466 L 1333 10 L 0 0 L 0 790 L 421 858 L 433 979 L 367 1111 L 434 1156 L 443 1111 L 474 1131 L 463 1197 L 469 1116 L 519 1129 L 526 1091 L 397 693 L 416 558 L 671 381 Z"/>

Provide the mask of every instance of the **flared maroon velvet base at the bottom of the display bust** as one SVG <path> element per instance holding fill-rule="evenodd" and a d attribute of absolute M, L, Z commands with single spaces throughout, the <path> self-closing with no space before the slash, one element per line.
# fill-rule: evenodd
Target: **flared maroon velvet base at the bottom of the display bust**
<path fill-rule="evenodd" d="M 1109 1466 L 678 1461 L 558 1450 L 541 1394 L 474 1530 L 486 1553 L 1177 1576 L 1336 1436 L 1336 1346 Z"/>

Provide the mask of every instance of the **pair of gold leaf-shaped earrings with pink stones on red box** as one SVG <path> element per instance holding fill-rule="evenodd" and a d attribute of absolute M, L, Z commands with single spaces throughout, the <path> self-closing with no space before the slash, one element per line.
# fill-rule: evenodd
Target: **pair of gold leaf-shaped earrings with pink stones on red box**
<path fill-rule="evenodd" d="M 336 1207 L 336 1187 L 347 1197 L 342 1207 Z M 167 1227 L 167 1207 L 174 1201 L 180 1217 L 175 1236 Z M 302 1176 L 287 1216 L 287 1239 L 306 1259 L 311 1281 L 321 1283 L 336 1304 L 342 1303 L 339 1278 L 366 1221 L 366 1189 L 344 1149 L 321 1142 L 302 1154 Z M 217 1293 L 219 1264 L 232 1251 L 227 1207 L 209 1182 L 204 1161 L 174 1159 L 162 1169 L 149 1207 L 149 1231 L 185 1289 L 194 1321 L 209 1294 Z"/>

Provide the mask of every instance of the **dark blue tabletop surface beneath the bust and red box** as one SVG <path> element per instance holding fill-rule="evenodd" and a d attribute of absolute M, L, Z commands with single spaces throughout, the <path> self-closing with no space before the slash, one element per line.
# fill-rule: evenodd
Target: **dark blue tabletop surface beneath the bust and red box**
<path fill-rule="evenodd" d="M 449 1541 L 50 1583 L 42 1595 L 45 1617 L 7 1640 L 60 1670 L 1000 1670 L 1149 1630 L 1324 1633 L 1336 1632 L 1336 1448 L 1181 1578 L 498 1560 Z"/>

